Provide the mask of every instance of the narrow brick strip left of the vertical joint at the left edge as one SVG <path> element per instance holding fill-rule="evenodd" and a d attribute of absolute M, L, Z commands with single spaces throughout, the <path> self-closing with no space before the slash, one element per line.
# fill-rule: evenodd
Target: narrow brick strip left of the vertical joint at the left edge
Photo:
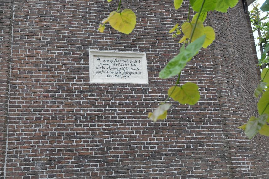
<path fill-rule="evenodd" d="M 4 176 L 11 62 L 13 2 L 0 1 L 0 178 Z"/>

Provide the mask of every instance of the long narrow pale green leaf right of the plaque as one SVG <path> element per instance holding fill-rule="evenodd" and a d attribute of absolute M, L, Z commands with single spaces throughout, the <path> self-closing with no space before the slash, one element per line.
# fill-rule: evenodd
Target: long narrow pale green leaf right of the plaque
<path fill-rule="evenodd" d="M 186 49 L 183 45 L 180 49 L 180 53 L 168 62 L 165 68 L 159 73 L 159 77 L 169 78 L 179 74 L 179 72 L 185 67 L 186 63 L 198 53 L 204 41 L 205 35 L 190 43 Z"/>

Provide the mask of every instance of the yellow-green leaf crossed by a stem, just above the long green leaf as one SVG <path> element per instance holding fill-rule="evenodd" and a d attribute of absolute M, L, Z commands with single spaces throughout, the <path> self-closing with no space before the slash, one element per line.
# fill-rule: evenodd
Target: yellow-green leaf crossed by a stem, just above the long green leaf
<path fill-rule="evenodd" d="M 185 22 L 182 24 L 182 32 L 187 38 L 191 38 L 191 32 L 194 27 L 194 24 L 195 24 L 195 21 L 192 21 L 191 23 Z M 204 35 L 204 25 L 200 20 L 198 20 L 191 42 L 195 41 L 197 38 L 201 37 L 202 35 Z"/>

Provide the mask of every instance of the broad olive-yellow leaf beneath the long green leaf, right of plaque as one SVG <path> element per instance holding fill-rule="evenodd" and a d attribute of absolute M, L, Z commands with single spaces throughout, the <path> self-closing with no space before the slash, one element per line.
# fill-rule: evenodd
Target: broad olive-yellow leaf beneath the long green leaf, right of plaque
<path fill-rule="evenodd" d="M 200 99 L 198 88 L 196 84 L 187 82 L 181 87 L 172 86 L 169 88 L 168 95 L 181 104 L 194 105 Z"/>

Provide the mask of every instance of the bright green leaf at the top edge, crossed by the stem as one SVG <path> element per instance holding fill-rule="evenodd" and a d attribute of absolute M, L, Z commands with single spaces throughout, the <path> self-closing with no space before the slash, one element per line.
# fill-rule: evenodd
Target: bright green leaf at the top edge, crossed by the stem
<path fill-rule="evenodd" d="M 196 12 L 199 12 L 202 6 L 202 2 L 203 2 L 202 0 L 191 0 L 192 9 L 195 10 Z M 206 0 L 202 8 L 202 13 L 215 10 L 216 2 L 217 0 Z"/>

